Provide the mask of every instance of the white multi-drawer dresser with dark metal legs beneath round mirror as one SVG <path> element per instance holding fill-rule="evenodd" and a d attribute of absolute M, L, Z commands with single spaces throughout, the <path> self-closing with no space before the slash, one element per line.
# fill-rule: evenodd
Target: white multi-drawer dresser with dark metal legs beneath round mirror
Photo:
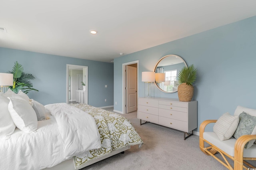
<path fill-rule="evenodd" d="M 138 99 L 138 119 L 184 132 L 184 140 L 197 128 L 197 101 L 161 97 Z M 187 135 L 187 136 L 186 136 Z"/>

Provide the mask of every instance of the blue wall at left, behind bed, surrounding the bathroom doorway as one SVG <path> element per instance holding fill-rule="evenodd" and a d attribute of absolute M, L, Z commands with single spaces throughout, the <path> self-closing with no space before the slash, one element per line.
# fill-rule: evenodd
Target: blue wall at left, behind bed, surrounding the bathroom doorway
<path fill-rule="evenodd" d="M 23 67 L 25 73 L 32 73 L 33 87 L 39 92 L 28 93 L 44 105 L 66 103 L 66 65 L 88 66 L 88 104 L 95 107 L 113 105 L 114 66 L 112 63 L 62 57 L 30 51 L 21 51 L 0 47 L 0 73 L 11 71 L 15 61 Z M 108 85 L 108 88 L 105 88 Z M 107 99 L 107 102 L 104 101 Z"/>

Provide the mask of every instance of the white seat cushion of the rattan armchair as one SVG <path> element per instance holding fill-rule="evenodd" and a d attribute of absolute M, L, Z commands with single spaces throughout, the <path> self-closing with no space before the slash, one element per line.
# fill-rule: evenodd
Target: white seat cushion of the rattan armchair
<path fill-rule="evenodd" d="M 208 142 L 212 143 L 214 146 L 216 146 L 220 150 L 234 157 L 235 142 L 236 142 L 236 139 L 234 137 L 231 137 L 228 140 L 220 141 L 220 139 L 218 138 L 215 132 L 204 132 L 203 138 Z M 248 149 L 244 149 L 244 157 L 256 158 L 256 144 L 253 144 Z"/>

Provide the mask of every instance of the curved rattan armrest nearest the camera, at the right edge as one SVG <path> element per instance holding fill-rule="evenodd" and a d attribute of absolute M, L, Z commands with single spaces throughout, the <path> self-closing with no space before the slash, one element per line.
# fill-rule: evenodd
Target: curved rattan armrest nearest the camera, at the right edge
<path fill-rule="evenodd" d="M 244 154 L 244 146 L 250 140 L 256 139 L 256 135 L 246 134 L 240 136 L 235 143 L 235 153 L 234 153 L 234 169 L 242 169 L 243 167 L 243 154 Z"/>

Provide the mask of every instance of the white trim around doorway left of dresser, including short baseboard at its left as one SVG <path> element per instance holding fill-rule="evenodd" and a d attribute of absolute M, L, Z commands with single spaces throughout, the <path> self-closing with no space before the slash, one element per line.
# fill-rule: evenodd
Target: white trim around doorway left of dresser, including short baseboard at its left
<path fill-rule="evenodd" d="M 122 111 L 123 112 L 120 112 L 120 111 L 115 111 L 115 112 L 118 112 L 118 113 L 122 113 L 122 114 L 125 114 L 126 111 L 125 111 L 125 95 L 124 95 L 124 91 L 125 91 L 125 69 L 126 69 L 126 65 L 131 65 L 131 64 L 136 64 L 137 63 L 137 101 L 138 101 L 138 92 L 139 92 L 139 84 L 138 84 L 138 78 L 139 78 L 139 60 L 136 60 L 136 61 L 131 61 L 131 62 L 128 62 L 128 63 L 123 63 L 122 64 Z M 138 108 L 138 102 L 137 102 L 137 108 Z"/>

